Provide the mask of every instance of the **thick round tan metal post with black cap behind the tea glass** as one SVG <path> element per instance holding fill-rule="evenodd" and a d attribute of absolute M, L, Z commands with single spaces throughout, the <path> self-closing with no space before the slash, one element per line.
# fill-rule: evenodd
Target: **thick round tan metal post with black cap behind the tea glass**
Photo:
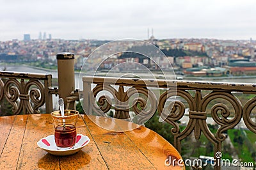
<path fill-rule="evenodd" d="M 67 97 L 75 89 L 74 54 L 62 52 L 56 55 L 58 61 L 58 86 L 59 97 L 64 99 L 65 108 Z M 74 109 L 74 102 L 67 109 Z"/>

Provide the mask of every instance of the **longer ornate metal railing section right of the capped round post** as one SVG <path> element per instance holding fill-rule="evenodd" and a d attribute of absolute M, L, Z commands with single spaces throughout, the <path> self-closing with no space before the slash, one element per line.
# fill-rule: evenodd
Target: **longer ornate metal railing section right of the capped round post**
<path fill-rule="evenodd" d="M 168 86 L 168 83 L 171 86 Z M 255 94 L 256 84 L 152 81 L 89 76 L 83 77 L 83 84 L 86 113 L 90 114 L 93 111 L 104 115 L 110 110 L 115 110 L 115 118 L 130 119 L 129 111 L 132 109 L 135 114 L 142 115 L 138 118 L 140 123 L 143 118 L 151 117 L 158 111 L 164 121 L 173 126 L 171 132 L 174 136 L 174 146 L 178 151 L 181 151 L 181 141 L 188 135 L 194 134 L 195 139 L 200 139 L 203 132 L 213 144 L 214 158 L 218 161 L 220 157 L 216 157 L 216 153 L 221 152 L 221 143 L 226 139 L 224 134 L 226 130 L 236 127 L 243 119 L 246 127 L 256 133 L 256 122 L 252 118 L 255 116 L 253 108 L 256 106 L 256 97 L 244 102 L 236 96 L 239 93 Z M 154 95 L 152 88 L 161 90 L 159 98 Z M 108 92 L 100 94 L 100 91 Z M 135 91 L 139 95 L 130 99 Z M 176 97 L 176 100 L 169 100 L 173 97 Z M 216 102 L 215 99 L 219 100 Z M 145 110 L 147 101 L 150 102 L 150 106 Z M 214 104 L 211 104 L 212 102 Z M 186 107 L 189 108 L 189 120 L 186 128 L 180 130 L 179 121 L 184 116 Z M 209 117 L 218 125 L 216 134 L 211 132 L 207 125 Z M 220 166 L 216 164 L 214 169 L 220 169 Z"/>

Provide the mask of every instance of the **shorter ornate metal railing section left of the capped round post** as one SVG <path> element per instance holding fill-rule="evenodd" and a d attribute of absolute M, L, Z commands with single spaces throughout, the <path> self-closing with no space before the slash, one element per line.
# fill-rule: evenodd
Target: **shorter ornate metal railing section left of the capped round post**
<path fill-rule="evenodd" d="M 45 104 L 45 112 L 52 111 L 52 75 L 39 73 L 0 72 L 0 102 L 12 106 L 10 114 L 39 113 Z M 3 109 L 3 108 L 0 108 Z"/>

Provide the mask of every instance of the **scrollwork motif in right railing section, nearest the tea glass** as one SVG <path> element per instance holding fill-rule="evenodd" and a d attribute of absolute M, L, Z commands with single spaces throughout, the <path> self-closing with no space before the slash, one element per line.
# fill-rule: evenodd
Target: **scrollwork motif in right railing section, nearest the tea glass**
<path fill-rule="evenodd" d="M 103 94 L 100 95 L 100 92 Z M 109 84 L 97 84 L 90 91 L 90 104 L 92 104 L 92 110 L 101 116 L 105 116 L 106 112 L 113 108 L 115 110 L 114 118 L 131 120 L 129 99 L 138 94 L 143 95 L 147 100 L 142 96 L 136 96 L 131 101 L 131 108 L 138 116 L 134 122 L 142 124 L 154 114 L 157 108 L 156 96 L 147 88 L 135 87 L 124 91 L 124 86 L 119 86 L 116 90 Z M 113 98 L 113 102 L 111 98 Z M 150 106 L 148 106 L 148 103 L 150 103 Z"/>

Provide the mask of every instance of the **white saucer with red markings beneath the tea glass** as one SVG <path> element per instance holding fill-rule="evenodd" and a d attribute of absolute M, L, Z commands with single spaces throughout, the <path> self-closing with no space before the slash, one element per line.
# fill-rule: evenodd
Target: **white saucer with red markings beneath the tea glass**
<path fill-rule="evenodd" d="M 54 141 L 54 135 L 49 135 L 47 137 L 40 139 L 40 141 L 37 142 L 37 146 L 47 151 L 48 153 L 51 153 L 52 155 L 58 155 L 58 156 L 72 155 L 77 151 L 81 150 L 82 148 L 84 148 L 86 144 L 90 143 L 90 139 L 86 135 L 77 134 L 76 137 L 77 137 L 77 141 L 74 148 L 68 149 L 68 150 L 58 150 Z"/>

